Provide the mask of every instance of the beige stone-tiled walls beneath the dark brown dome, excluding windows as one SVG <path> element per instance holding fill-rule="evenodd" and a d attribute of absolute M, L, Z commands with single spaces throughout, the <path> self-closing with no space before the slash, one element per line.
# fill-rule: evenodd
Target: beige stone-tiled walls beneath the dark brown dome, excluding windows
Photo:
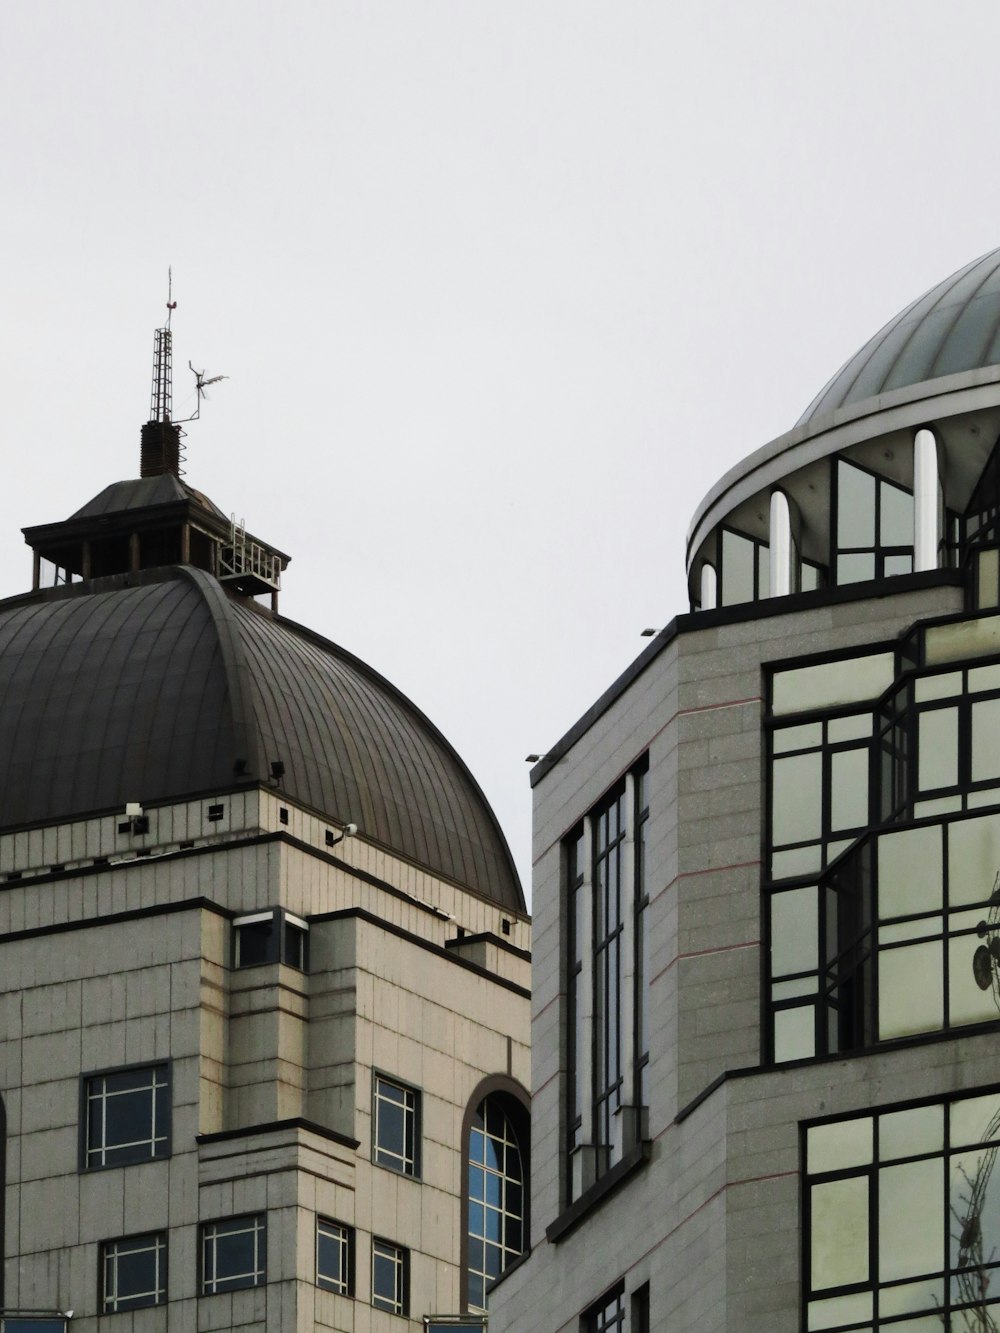
<path fill-rule="evenodd" d="M 5 1309 L 357 1333 L 460 1312 L 463 1124 L 487 1076 L 528 1084 L 527 920 L 363 837 L 328 849 L 277 792 L 145 816 L 0 838 Z M 308 925 L 308 968 L 233 966 L 233 921 L 273 908 Z M 149 1065 L 167 1154 L 88 1166 L 87 1077 Z M 376 1070 L 417 1094 L 412 1177 L 372 1160 Z M 199 1224 L 247 1214 L 265 1280 L 204 1294 Z M 317 1285 L 317 1217 L 352 1232 L 349 1296 Z M 101 1244 L 140 1233 L 165 1237 L 165 1301 L 101 1318 Z M 407 1252 L 405 1318 L 372 1308 L 372 1236 Z"/>

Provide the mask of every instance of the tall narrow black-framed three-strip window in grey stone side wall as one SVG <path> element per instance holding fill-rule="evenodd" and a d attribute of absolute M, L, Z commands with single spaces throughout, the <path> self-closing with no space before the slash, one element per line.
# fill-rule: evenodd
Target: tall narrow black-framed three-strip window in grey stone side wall
<path fill-rule="evenodd" d="M 567 869 L 567 1150 L 600 1174 L 632 1146 L 647 1097 L 648 764 L 637 764 L 564 842 Z"/>

